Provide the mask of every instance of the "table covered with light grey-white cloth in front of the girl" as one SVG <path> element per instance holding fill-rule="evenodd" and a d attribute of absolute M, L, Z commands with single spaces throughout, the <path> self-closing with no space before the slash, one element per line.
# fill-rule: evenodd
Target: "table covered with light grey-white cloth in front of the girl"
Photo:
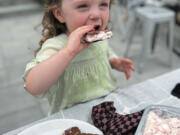
<path fill-rule="evenodd" d="M 137 112 L 151 104 L 169 105 L 180 108 L 180 99 L 170 94 L 177 83 L 180 83 L 180 68 L 127 88 L 117 89 L 105 97 L 75 105 L 45 119 L 5 133 L 4 135 L 17 135 L 32 125 L 52 119 L 78 119 L 92 124 L 92 107 L 104 101 L 114 101 L 114 106 L 117 109 L 116 112 L 121 114 Z"/>

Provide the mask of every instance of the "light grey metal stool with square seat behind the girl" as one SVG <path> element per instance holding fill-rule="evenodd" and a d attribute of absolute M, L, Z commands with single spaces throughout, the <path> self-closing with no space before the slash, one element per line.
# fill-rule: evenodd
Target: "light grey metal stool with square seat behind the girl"
<path fill-rule="evenodd" d="M 154 6 L 144 6 L 138 7 L 135 9 L 135 23 L 139 19 L 143 23 L 143 40 L 142 40 L 142 49 L 140 53 L 139 63 L 138 63 L 138 72 L 142 73 L 144 63 L 146 61 L 147 55 L 149 53 L 149 48 L 152 45 L 152 38 L 154 30 L 157 24 L 168 23 L 169 33 L 168 33 L 168 51 L 169 51 L 169 65 L 172 65 L 172 49 L 173 49 L 173 33 L 174 33 L 174 17 L 175 14 L 173 11 Z M 131 29 L 129 35 L 127 48 L 124 56 L 128 57 L 128 52 L 132 45 L 132 39 L 134 36 L 135 27 Z"/>

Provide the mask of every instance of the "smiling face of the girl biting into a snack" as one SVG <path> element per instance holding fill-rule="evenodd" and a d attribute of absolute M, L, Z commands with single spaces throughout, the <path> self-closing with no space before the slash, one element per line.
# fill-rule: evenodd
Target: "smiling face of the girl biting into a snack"
<path fill-rule="evenodd" d="M 84 25 L 98 25 L 104 30 L 109 21 L 109 6 L 110 0 L 62 0 L 56 18 L 66 23 L 70 33 Z"/>

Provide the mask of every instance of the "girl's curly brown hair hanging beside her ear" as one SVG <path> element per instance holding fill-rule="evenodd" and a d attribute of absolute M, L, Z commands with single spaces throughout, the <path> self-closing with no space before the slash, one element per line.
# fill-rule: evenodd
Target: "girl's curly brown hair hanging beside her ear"
<path fill-rule="evenodd" d="M 53 9 L 61 6 L 62 0 L 44 0 L 44 16 L 42 19 L 42 38 L 39 42 L 40 47 L 35 54 L 41 49 L 43 43 L 54 36 L 65 33 L 67 31 L 65 23 L 59 22 L 53 15 Z M 113 0 L 110 1 L 110 5 Z"/>

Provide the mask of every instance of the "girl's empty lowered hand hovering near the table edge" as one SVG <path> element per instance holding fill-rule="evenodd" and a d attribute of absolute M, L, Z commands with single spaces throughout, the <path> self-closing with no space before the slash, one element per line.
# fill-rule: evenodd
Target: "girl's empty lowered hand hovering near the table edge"
<path fill-rule="evenodd" d="M 127 80 L 131 77 L 131 70 L 135 71 L 133 62 L 129 59 L 112 58 L 112 59 L 110 59 L 110 64 L 111 64 L 112 68 L 114 68 L 120 72 L 124 72 Z"/>

